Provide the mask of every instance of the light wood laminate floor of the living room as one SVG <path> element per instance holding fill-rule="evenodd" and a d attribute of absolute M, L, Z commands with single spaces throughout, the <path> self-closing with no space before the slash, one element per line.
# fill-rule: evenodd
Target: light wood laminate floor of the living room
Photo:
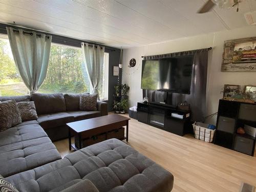
<path fill-rule="evenodd" d="M 129 122 L 128 143 L 174 175 L 174 192 L 236 192 L 242 181 L 256 186 L 255 156 L 206 143 L 191 135 L 181 137 L 135 119 Z M 68 139 L 54 144 L 62 157 L 72 153 Z"/>

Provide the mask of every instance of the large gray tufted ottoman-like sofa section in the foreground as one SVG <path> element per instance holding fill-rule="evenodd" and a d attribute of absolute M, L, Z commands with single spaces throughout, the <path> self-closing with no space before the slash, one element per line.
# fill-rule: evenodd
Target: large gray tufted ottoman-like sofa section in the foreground
<path fill-rule="evenodd" d="M 19 191 L 61 191 L 82 180 L 99 191 L 170 191 L 173 175 L 120 140 L 82 148 L 6 180 Z"/>

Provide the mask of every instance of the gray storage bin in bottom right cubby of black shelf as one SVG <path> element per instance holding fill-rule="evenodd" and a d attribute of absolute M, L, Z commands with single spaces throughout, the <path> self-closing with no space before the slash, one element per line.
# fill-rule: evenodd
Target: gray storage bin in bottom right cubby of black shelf
<path fill-rule="evenodd" d="M 253 139 L 237 135 L 236 138 L 234 139 L 234 150 L 247 155 L 251 155 L 253 150 L 253 144 Z"/>

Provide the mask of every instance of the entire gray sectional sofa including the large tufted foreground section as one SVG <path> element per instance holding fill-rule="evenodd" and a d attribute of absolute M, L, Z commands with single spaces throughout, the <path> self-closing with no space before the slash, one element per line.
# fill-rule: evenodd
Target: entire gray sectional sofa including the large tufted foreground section
<path fill-rule="evenodd" d="M 79 111 L 79 95 L 0 97 L 35 102 L 37 120 L 0 132 L 0 175 L 19 191 L 170 191 L 173 175 L 117 139 L 82 148 L 61 159 L 52 140 L 68 136 L 66 123 L 108 114 Z M 49 138 L 49 137 L 50 138 Z M 68 148 L 68 146 L 67 146 Z"/>

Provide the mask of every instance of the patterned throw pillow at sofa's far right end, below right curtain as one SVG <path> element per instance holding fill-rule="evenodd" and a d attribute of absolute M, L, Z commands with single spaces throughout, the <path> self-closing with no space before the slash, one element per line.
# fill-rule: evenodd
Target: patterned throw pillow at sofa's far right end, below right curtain
<path fill-rule="evenodd" d="M 81 111 L 97 111 L 97 94 L 80 94 Z"/>

